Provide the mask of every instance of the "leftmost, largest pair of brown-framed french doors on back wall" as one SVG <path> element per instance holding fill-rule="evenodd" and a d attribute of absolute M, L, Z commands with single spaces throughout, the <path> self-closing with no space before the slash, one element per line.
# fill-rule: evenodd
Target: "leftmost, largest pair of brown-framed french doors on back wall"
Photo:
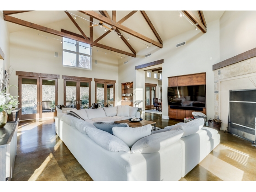
<path fill-rule="evenodd" d="M 55 117 L 58 79 L 19 76 L 21 120 Z"/>

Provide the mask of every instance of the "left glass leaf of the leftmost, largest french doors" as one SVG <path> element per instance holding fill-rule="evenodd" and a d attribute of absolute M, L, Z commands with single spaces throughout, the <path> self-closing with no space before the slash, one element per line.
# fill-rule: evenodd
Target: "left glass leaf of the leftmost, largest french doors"
<path fill-rule="evenodd" d="M 39 118 L 39 78 L 20 76 L 21 119 Z"/>

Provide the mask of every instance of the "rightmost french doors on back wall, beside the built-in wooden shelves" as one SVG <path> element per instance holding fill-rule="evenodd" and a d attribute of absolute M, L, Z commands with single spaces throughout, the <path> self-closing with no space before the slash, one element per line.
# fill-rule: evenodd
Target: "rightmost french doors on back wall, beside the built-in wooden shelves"
<path fill-rule="evenodd" d="M 115 84 L 95 82 L 95 102 L 101 103 L 101 107 L 115 106 Z"/>

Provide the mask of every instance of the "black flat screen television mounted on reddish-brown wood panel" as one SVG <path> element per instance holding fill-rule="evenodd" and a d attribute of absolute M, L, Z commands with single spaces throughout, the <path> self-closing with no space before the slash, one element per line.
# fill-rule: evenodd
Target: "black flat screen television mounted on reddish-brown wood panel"
<path fill-rule="evenodd" d="M 168 105 L 205 108 L 205 85 L 168 87 Z"/>

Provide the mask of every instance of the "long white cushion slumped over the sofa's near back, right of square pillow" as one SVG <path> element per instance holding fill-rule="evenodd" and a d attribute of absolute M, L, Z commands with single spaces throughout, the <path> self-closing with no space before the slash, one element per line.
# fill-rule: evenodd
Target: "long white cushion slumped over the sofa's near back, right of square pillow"
<path fill-rule="evenodd" d="M 182 135 L 183 131 L 180 129 L 149 135 L 137 141 L 131 153 L 155 153 L 176 143 Z"/>

